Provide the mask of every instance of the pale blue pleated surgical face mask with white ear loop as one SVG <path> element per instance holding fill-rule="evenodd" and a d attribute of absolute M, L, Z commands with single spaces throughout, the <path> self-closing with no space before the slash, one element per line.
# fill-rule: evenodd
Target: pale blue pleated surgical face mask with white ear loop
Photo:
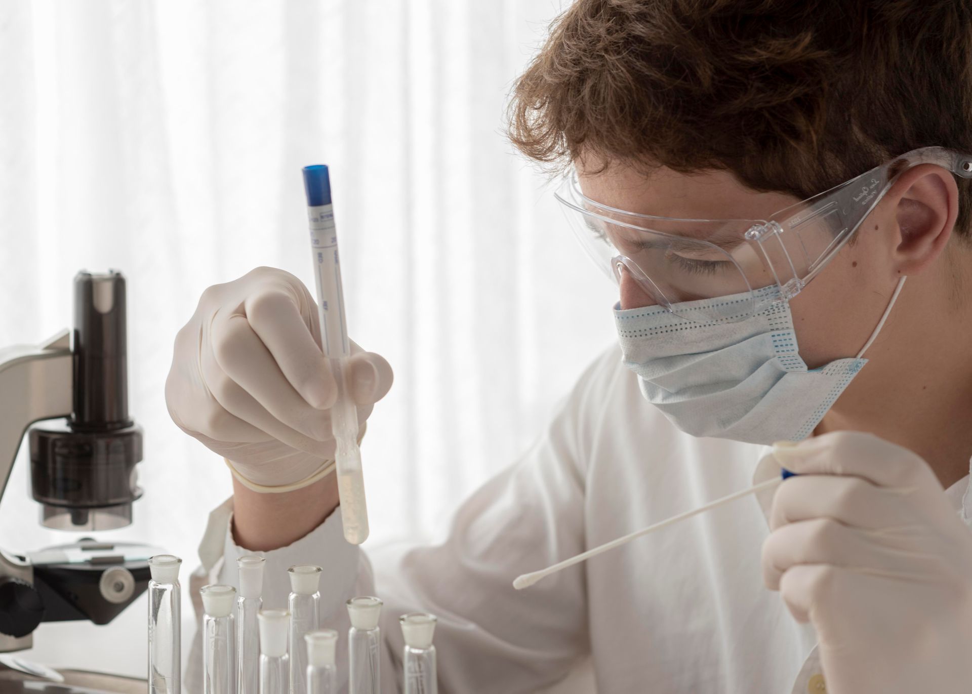
<path fill-rule="evenodd" d="M 856 357 L 810 369 L 800 358 L 789 304 L 774 301 L 737 323 L 693 323 L 662 306 L 615 309 L 624 364 L 638 374 L 644 397 L 678 429 L 749 443 L 800 440 L 814 428 L 857 372 L 884 326 L 898 282 L 870 339 Z M 754 293 L 779 298 L 779 287 Z M 679 304 L 685 315 L 750 294 Z"/>

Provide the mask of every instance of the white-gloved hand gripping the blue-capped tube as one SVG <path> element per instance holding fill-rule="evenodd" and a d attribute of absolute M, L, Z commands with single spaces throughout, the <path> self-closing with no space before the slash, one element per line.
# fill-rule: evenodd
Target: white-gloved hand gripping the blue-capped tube
<path fill-rule="evenodd" d="M 202 293 L 176 335 L 165 402 L 176 425 L 248 480 L 294 484 L 333 458 L 337 390 L 317 304 L 294 275 L 258 267 Z M 392 386 L 392 368 L 358 345 L 350 391 L 358 421 Z"/>

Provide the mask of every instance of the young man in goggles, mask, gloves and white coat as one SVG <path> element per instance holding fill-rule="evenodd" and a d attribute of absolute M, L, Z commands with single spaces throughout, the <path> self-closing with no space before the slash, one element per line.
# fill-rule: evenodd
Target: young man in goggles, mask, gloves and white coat
<path fill-rule="evenodd" d="M 444 692 L 532 691 L 587 653 L 602 694 L 967 691 L 970 53 L 964 1 L 579 0 L 510 134 L 573 167 L 558 194 L 619 282 L 620 351 L 444 544 L 372 578 L 333 476 L 301 486 L 332 452 L 311 296 L 267 268 L 212 288 L 166 388 L 235 468 L 210 578 L 261 550 L 279 604 L 284 568 L 321 564 L 339 630 L 347 598 L 387 598 L 389 674 L 394 620 L 432 611 Z M 357 360 L 364 420 L 391 369 Z M 780 466 L 759 503 L 510 587 Z"/>

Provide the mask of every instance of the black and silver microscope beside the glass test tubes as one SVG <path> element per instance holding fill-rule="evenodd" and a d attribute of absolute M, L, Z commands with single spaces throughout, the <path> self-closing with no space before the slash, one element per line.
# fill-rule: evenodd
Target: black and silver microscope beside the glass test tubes
<path fill-rule="evenodd" d="M 142 430 L 128 416 L 125 335 L 121 273 L 82 271 L 73 331 L 0 349 L 0 498 L 27 434 L 31 491 L 46 527 L 131 523 L 142 496 Z M 32 647 L 41 622 L 107 624 L 146 590 L 157 551 L 93 538 L 24 554 L 0 549 L 0 653 Z"/>

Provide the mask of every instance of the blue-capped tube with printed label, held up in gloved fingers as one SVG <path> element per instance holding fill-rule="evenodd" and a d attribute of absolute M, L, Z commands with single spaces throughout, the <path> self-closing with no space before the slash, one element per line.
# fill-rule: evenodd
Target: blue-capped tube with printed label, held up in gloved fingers
<path fill-rule="evenodd" d="M 351 397 L 347 383 L 351 340 L 348 339 L 344 312 L 328 167 L 324 164 L 304 166 L 303 177 L 314 258 L 314 281 L 317 285 L 321 347 L 337 385 L 337 399 L 330 408 L 330 423 L 336 444 L 334 463 L 337 467 L 341 522 L 344 525 L 344 538 L 352 544 L 361 544 L 368 534 L 367 506 L 364 503 L 362 454 L 358 447 L 358 406 Z"/>

